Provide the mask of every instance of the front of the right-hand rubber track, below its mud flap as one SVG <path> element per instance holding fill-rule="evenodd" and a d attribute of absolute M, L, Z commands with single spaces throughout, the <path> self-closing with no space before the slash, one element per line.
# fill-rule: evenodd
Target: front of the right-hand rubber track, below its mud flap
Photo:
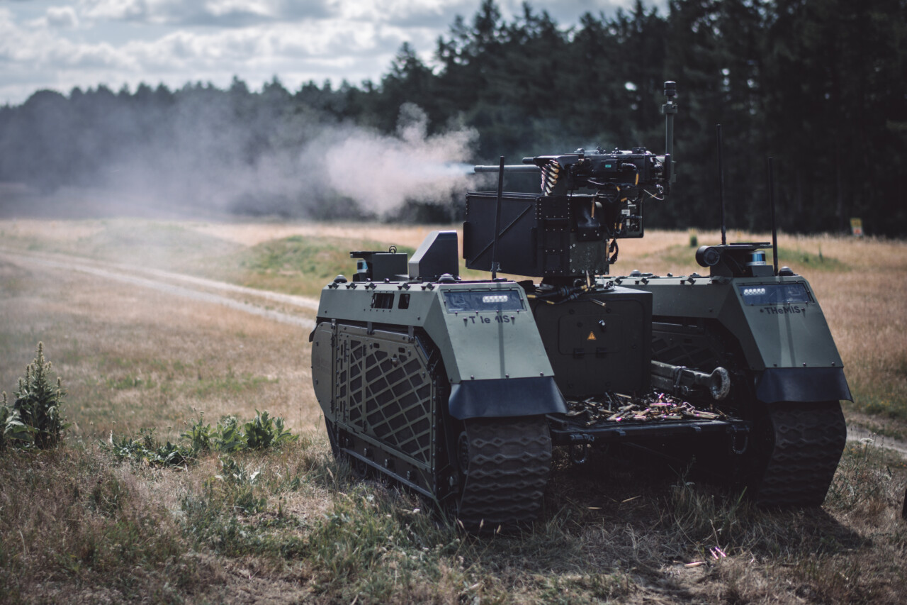
<path fill-rule="evenodd" d="M 775 447 L 756 488 L 756 504 L 821 506 L 841 460 L 847 426 L 838 402 L 770 406 Z"/>

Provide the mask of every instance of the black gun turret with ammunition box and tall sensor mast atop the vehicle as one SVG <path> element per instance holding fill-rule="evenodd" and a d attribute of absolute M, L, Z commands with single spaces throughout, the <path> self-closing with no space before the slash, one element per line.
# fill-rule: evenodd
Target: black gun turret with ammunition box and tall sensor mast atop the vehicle
<path fill-rule="evenodd" d="M 643 236 L 644 202 L 666 199 L 674 180 L 675 83 L 665 83 L 665 95 L 663 155 L 643 147 L 578 149 L 525 157 L 516 165 L 475 166 L 476 173 L 498 173 L 499 187 L 498 193 L 466 195 L 466 266 L 546 278 L 608 273 L 617 261 L 617 240 Z M 540 174 L 541 192 L 502 193 L 506 173 Z"/>

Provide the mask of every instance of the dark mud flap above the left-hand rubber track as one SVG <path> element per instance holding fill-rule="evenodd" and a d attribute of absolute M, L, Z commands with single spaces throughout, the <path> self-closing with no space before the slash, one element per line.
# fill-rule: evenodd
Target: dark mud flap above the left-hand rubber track
<path fill-rule="evenodd" d="M 467 381 L 451 385 L 453 418 L 504 418 L 567 413 L 567 402 L 551 376 Z"/>

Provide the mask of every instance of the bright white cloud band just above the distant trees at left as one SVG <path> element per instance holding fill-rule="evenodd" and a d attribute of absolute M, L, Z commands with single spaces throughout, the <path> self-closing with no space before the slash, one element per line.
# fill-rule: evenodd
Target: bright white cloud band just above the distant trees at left
<path fill-rule="evenodd" d="M 241 28 L 163 28 L 163 35 L 107 42 L 84 17 L 75 30 L 78 35 L 15 17 L 0 7 L 0 104 L 22 103 L 40 88 L 66 93 L 74 86 L 102 83 L 114 90 L 140 82 L 176 88 L 204 81 L 222 87 L 234 74 L 252 86 L 277 74 L 290 89 L 308 80 L 336 84 L 346 78 L 358 83 L 384 73 L 407 39 L 403 28 L 327 19 Z"/>

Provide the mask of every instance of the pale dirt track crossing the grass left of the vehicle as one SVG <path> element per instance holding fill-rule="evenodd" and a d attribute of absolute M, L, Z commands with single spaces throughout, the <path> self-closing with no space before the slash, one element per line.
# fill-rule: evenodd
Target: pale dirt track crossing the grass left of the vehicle
<path fill-rule="evenodd" d="M 318 302 L 306 296 L 256 290 L 233 283 L 217 282 L 182 273 L 171 273 L 133 265 L 102 263 L 92 259 L 67 257 L 61 254 L 34 254 L 0 250 L 0 258 L 14 264 L 88 273 L 103 279 L 130 283 L 142 288 L 151 288 L 152 290 L 189 298 L 194 301 L 219 304 L 230 309 L 265 317 L 275 322 L 288 323 L 307 329 L 315 327 L 312 315 L 317 311 Z M 143 273 L 145 276 L 140 277 L 136 273 Z M 181 285 L 173 282 L 181 283 Z M 275 311 L 265 308 L 260 303 L 238 300 L 225 294 L 240 295 L 244 298 L 251 297 L 260 302 L 278 302 L 288 305 L 291 309 L 298 309 L 302 315 L 288 311 Z"/>

